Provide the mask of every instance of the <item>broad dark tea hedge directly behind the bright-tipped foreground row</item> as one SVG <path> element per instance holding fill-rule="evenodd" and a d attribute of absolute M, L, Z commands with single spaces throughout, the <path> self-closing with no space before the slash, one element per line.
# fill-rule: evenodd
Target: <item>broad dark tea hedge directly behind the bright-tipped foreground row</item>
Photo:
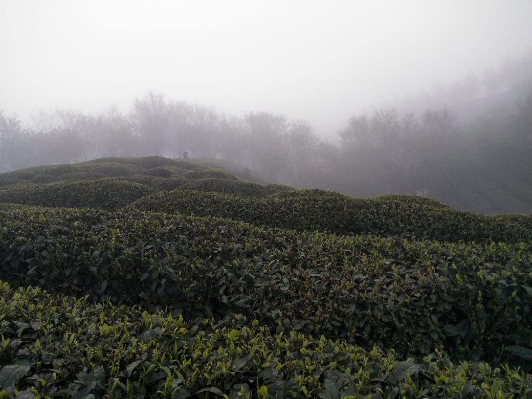
<path fill-rule="evenodd" d="M 530 244 L 441 244 L 260 229 L 230 220 L 84 210 L 6 210 L 0 277 L 92 301 L 246 314 L 275 328 L 444 347 L 498 361 L 530 347 Z"/>

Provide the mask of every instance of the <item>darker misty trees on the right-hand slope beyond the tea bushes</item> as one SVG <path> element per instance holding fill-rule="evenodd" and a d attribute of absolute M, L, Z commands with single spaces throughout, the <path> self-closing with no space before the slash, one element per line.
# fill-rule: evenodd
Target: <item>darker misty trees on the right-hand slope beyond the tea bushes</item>
<path fill-rule="evenodd" d="M 351 118 L 339 135 L 338 187 L 346 194 L 429 195 L 462 210 L 532 212 L 532 95 L 509 113 L 465 124 L 445 107 L 419 118 L 377 111 Z"/>

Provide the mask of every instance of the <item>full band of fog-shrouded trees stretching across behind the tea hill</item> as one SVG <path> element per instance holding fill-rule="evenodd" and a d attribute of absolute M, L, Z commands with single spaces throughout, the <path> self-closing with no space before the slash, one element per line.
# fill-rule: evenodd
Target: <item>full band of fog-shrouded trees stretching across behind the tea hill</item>
<path fill-rule="evenodd" d="M 26 127 L 0 113 L 0 172 L 187 151 L 295 187 L 356 197 L 428 195 L 484 213 L 532 212 L 532 54 L 396 109 L 353 115 L 337 132 L 339 143 L 315 134 L 309 121 L 271 112 L 237 117 L 154 92 L 135 98 L 127 113 L 57 110 L 33 120 Z"/>

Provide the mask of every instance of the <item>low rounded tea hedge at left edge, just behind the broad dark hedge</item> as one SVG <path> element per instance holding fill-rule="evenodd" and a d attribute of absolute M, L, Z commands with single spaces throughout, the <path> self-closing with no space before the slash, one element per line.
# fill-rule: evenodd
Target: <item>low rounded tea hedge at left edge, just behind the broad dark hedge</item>
<path fill-rule="evenodd" d="M 119 178 L 59 181 L 10 186 L 0 191 L 0 203 L 117 209 L 153 192 L 151 187 Z"/>

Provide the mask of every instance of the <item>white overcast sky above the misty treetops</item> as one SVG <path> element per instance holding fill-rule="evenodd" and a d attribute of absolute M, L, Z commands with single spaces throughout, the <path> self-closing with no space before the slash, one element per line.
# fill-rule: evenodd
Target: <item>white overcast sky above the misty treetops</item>
<path fill-rule="evenodd" d="M 0 110 L 130 109 L 148 90 L 334 134 L 532 48 L 532 1 L 0 0 Z"/>

